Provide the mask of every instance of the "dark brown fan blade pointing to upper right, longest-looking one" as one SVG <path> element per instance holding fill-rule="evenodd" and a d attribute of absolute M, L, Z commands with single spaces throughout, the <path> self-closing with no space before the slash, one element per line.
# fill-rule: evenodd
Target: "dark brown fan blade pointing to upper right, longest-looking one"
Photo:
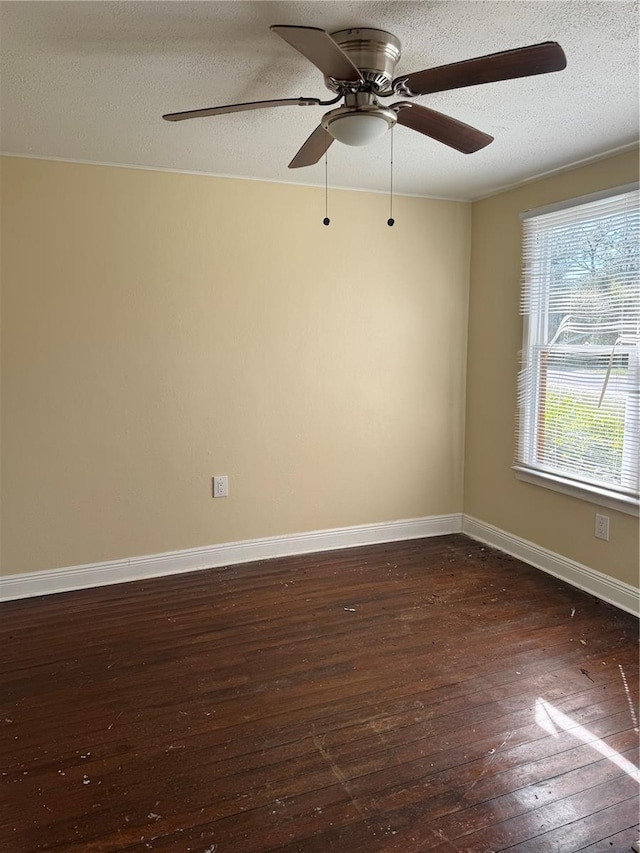
<path fill-rule="evenodd" d="M 398 77 L 393 84 L 395 86 L 396 82 L 404 83 L 413 95 L 430 95 L 432 92 L 463 89 L 465 86 L 477 86 L 479 83 L 548 74 L 550 71 L 562 71 L 566 67 L 567 58 L 560 45 L 555 41 L 545 41 L 528 47 L 478 56 L 463 62 L 453 62 L 451 65 L 428 68 L 426 71 L 416 71 L 406 77 Z M 402 91 L 402 88 L 397 91 Z"/>

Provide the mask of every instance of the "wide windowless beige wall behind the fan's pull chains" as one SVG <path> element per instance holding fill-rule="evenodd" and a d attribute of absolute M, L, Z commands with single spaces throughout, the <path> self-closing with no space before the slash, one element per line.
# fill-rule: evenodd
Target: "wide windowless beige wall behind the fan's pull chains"
<path fill-rule="evenodd" d="M 2 169 L 4 574 L 462 510 L 470 205 Z"/>

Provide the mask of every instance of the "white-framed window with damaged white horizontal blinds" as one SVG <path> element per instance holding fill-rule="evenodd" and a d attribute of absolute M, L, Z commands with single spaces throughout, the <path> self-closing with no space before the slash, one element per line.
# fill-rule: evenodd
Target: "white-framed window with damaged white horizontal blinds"
<path fill-rule="evenodd" d="M 521 479 L 637 514 L 637 186 L 523 214 Z"/>

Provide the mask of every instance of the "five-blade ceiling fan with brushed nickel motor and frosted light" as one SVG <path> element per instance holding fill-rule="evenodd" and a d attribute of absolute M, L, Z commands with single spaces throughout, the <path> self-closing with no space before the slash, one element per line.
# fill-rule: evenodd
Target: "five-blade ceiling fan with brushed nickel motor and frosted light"
<path fill-rule="evenodd" d="M 384 106 L 378 99 L 394 95 L 414 98 L 479 83 L 531 77 L 562 71 L 567 65 L 560 45 L 547 41 L 394 78 L 401 45 L 396 36 L 385 30 L 348 29 L 329 34 L 318 27 L 276 24 L 270 29 L 322 71 L 325 85 L 336 94 L 335 98 L 328 101 L 319 98 L 252 101 L 167 113 L 163 118 L 183 121 L 266 107 L 324 107 L 337 104 L 344 98 L 342 106 L 322 116 L 321 123 L 289 163 L 290 169 L 317 163 L 336 139 L 346 145 L 366 145 L 383 136 L 396 123 L 463 154 L 471 154 L 492 142 L 493 137 L 409 100 Z"/>

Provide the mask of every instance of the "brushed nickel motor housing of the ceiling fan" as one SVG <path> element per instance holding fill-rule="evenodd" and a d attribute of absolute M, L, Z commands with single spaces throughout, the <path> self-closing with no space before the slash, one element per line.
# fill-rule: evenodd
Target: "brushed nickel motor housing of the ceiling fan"
<path fill-rule="evenodd" d="M 400 59 L 400 40 L 386 30 L 351 29 L 331 33 L 331 38 L 353 62 L 365 83 L 376 94 L 391 93 L 394 70 Z M 340 81 L 325 77 L 333 92 L 341 90 Z"/>

